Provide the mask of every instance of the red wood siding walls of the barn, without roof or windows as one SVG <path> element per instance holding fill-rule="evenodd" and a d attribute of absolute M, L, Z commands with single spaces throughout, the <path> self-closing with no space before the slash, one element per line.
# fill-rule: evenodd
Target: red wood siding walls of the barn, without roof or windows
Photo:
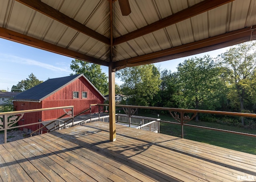
<path fill-rule="evenodd" d="M 79 98 L 73 99 L 73 92 L 79 92 Z M 82 98 L 82 92 L 87 92 L 87 98 Z M 24 104 L 25 103 L 25 104 Z M 90 108 L 90 104 L 103 104 L 104 98 L 94 89 L 91 84 L 89 84 L 86 79 L 81 76 L 80 78 L 74 80 L 72 83 L 68 84 L 64 88 L 61 88 L 54 94 L 48 96 L 42 102 L 14 102 L 14 107 L 16 110 L 30 110 L 30 109 L 40 109 L 40 108 L 53 108 L 61 106 L 74 106 L 74 115 Z M 21 106 L 23 104 L 23 106 Z M 66 110 L 68 112 L 68 110 Z M 98 112 L 98 107 L 93 107 L 92 112 Z M 43 112 L 35 112 L 30 114 L 24 114 L 24 122 L 20 124 L 34 123 L 38 122 L 38 119 L 42 121 L 56 119 L 63 115 L 65 112 L 61 110 L 49 110 Z M 89 114 L 90 111 L 85 114 Z M 39 126 L 34 125 L 31 127 L 26 127 L 35 131 Z"/>

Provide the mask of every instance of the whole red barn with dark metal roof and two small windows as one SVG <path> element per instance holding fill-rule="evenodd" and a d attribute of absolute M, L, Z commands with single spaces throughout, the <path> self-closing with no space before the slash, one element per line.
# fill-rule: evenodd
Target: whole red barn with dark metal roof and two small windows
<path fill-rule="evenodd" d="M 61 78 L 52 78 L 26 90 L 14 97 L 14 109 L 31 110 L 53 108 L 60 106 L 74 106 L 74 115 L 90 108 L 90 104 L 103 104 L 104 96 L 83 75 L 72 75 Z M 97 112 L 93 107 L 92 112 Z M 88 114 L 86 112 L 85 114 Z M 47 121 L 63 114 L 63 110 L 48 110 L 24 114 L 19 125 Z M 39 125 L 27 126 L 29 131 L 35 131 Z"/>

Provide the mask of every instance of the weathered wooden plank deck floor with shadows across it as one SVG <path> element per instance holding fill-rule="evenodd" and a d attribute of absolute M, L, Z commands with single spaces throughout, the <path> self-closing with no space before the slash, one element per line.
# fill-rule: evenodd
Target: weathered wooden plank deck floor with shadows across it
<path fill-rule="evenodd" d="M 0 181 L 246 181 L 256 156 L 169 135 L 88 123 L 0 145 Z M 255 145 L 255 144 L 253 144 Z"/>

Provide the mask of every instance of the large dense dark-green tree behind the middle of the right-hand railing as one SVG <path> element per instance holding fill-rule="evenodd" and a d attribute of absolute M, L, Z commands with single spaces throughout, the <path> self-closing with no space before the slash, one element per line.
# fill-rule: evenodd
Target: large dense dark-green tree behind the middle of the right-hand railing
<path fill-rule="evenodd" d="M 220 68 L 209 55 L 185 60 L 177 70 L 179 92 L 175 98 L 180 108 L 215 110 L 221 107 L 226 87 Z"/>

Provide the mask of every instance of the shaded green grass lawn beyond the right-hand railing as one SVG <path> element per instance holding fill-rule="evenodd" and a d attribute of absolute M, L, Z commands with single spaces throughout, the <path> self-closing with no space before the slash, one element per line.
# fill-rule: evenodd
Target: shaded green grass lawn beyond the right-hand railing
<path fill-rule="evenodd" d="M 139 115 L 157 118 L 157 115 L 144 112 L 140 112 Z M 164 121 L 174 121 L 171 115 L 160 115 L 159 118 Z M 235 127 L 219 123 L 189 121 L 188 124 L 256 134 L 256 130 L 253 129 L 245 129 L 243 127 Z M 181 125 L 161 122 L 160 133 L 181 137 Z M 184 138 L 256 155 L 256 137 L 184 126 Z"/>

